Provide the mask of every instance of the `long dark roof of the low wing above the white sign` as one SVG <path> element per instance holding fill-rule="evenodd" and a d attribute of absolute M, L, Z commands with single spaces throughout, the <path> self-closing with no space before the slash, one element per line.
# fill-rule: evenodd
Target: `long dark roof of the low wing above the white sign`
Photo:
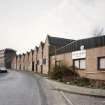
<path fill-rule="evenodd" d="M 84 46 L 84 49 L 105 46 L 105 35 L 86 38 L 86 39 L 80 39 L 80 40 L 71 42 L 67 44 L 66 46 L 56 49 L 56 54 L 77 51 L 77 50 L 80 50 L 81 46 Z M 51 55 L 54 55 L 54 52 L 52 52 Z"/>

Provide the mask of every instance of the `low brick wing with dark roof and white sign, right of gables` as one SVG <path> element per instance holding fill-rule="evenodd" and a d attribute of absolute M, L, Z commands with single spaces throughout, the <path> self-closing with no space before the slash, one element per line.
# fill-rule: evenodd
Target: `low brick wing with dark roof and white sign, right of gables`
<path fill-rule="evenodd" d="M 50 61 L 51 68 L 63 63 L 81 77 L 105 80 L 105 36 L 74 41 L 53 52 Z"/>

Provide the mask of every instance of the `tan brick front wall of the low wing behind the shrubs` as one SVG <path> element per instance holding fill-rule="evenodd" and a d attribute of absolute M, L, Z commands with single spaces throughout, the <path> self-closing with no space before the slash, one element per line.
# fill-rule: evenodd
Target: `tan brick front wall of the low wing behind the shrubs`
<path fill-rule="evenodd" d="M 105 80 L 105 71 L 98 70 L 98 57 L 105 56 L 105 47 L 98 47 L 86 50 L 86 69 L 85 70 L 76 70 L 81 77 L 96 79 L 96 80 Z M 68 67 L 73 65 L 72 54 L 64 53 L 59 55 L 54 55 L 50 57 L 51 68 L 55 66 L 55 60 L 61 61 L 62 64 L 67 65 Z"/>

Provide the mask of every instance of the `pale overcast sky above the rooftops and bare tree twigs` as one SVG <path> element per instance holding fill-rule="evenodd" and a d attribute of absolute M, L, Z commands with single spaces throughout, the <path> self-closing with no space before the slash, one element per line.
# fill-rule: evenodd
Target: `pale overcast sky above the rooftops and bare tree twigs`
<path fill-rule="evenodd" d="M 18 54 L 39 46 L 47 35 L 82 39 L 102 28 L 105 0 L 0 0 L 0 49 Z"/>

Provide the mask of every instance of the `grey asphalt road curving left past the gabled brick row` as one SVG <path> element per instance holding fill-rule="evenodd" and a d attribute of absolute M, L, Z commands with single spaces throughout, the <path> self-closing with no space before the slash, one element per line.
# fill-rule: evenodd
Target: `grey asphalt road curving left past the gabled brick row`
<path fill-rule="evenodd" d="M 105 105 L 103 98 L 64 93 L 73 105 Z M 0 105 L 72 105 L 46 80 L 29 72 L 0 74 Z"/>

